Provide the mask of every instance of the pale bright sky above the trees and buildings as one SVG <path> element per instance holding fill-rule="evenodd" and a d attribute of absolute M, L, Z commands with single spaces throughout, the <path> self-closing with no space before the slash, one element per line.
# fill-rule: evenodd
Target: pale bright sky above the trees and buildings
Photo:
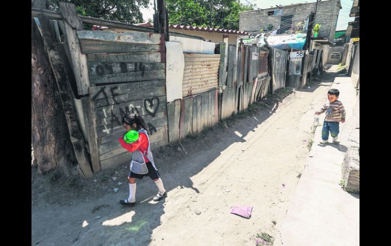
<path fill-rule="evenodd" d="M 253 5 L 256 5 L 254 8 L 268 9 L 276 5 L 289 5 L 289 4 L 300 4 L 300 3 L 315 3 L 316 0 L 247 0 Z M 354 17 L 349 17 L 351 6 L 353 5 L 353 0 L 340 0 L 342 9 L 339 10 L 337 30 L 346 30 L 347 23 L 353 21 Z M 243 5 L 249 5 L 245 0 L 240 0 L 240 3 Z M 141 8 L 141 13 L 143 14 L 144 21 L 147 21 L 148 18 L 153 19 L 153 0 L 150 0 L 150 5 L 148 9 Z"/>

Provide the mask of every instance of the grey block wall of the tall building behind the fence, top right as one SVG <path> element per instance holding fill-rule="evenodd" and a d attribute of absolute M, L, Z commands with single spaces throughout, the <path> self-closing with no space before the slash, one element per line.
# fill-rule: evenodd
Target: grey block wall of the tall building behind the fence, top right
<path fill-rule="evenodd" d="M 315 17 L 315 24 L 320 24 L 319 37 L 328 38 L 334 42 L 335 29 L 340 10 L 340 0 L 322 1 L 318 4 Z M 268 16 L 269 11 L 277 11 L 275 15 Z M 281 9 L 270 8 L 262 11 L 246 11 L 239 13 L 239 30 L 259 34 L 259 29 L 263 28 L 269 31 L 269 25 L 272 25 L 272 31 L 281 27 L 281 16 L 293 15 L 292 26 L 295 29 L 297 24 L 307 19 L 311 12 L 315 12 L 315 3 L 294 4 L 284 6 Z M 302 28 L 301 28 L 302 29 Z"/>

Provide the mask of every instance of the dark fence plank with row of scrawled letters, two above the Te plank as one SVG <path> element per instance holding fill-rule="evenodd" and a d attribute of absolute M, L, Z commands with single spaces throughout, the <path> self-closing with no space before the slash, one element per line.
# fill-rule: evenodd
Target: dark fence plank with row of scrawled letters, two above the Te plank
<path fill-rule="evenodd" d="M 165 68 L 166 63 L 162 62 L 88 62 L 88 75 L 102 76 L 108 74 L 150 71 Z"/>

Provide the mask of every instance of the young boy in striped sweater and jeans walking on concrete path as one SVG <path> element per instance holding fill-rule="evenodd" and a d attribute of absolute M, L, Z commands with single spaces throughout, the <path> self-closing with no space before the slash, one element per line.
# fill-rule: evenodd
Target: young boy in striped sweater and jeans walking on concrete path
<path fill-rule="evenodd" d="M 326 117 L 323 122 L 322 140 L 320 144 L 326 144 L 329 140 L 329 131 L 333 137 L 333 143 L 338 143 L 339 122 L 345 122 L 345 109 L 338 99 L 339 90 L 331 89 L 327 93 L 329 102 L 325 103 L 323 107 L 315 112 L 315 115 L 320 115 L 326 112 Z"/>

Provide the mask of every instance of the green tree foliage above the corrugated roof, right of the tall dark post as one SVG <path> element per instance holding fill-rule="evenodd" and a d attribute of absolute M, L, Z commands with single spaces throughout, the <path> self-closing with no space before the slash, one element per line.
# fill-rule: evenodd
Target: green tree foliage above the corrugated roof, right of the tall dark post
<path fill-rule="evenodd" d="M 253 10 L 238 0 L 166 0 L 170 24 L 239 29 L 239 12 Z"/>

